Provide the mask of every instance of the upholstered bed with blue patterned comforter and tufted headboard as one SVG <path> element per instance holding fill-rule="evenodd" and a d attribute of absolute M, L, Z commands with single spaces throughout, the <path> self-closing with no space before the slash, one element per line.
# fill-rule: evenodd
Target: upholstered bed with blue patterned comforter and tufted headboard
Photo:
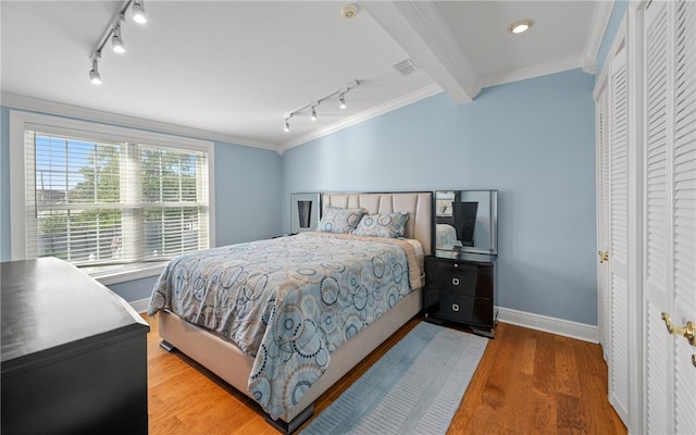
<path fill-rule="evenodd" d="M 172 260 L 148 309 L 159 315 L 162 346 L 186 353 L 259 402 L 271 424 L 294 432 L 321 394 L 421 311 L 432 201 L 431 192 L 323 194 L 323 215 L 362 210 L 351 217 L 358 234 L 337 225 Z M 373 237 L 381 227 L 369 217 L 403 213 L 403 237 Z M 233 282 L 243 286 L 231 297 Z M 239 311 L 229 314 L 223 304 Z"/>

